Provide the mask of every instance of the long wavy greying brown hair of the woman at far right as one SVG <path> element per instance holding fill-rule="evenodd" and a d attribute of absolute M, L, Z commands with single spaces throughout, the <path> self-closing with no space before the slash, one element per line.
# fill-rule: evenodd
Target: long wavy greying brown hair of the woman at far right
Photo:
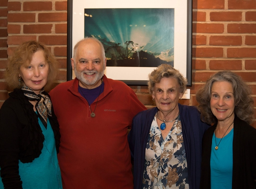
<path fill-rule="evenodd" d="M 212 75 L 206 84 L 196 93 L 198 102 L 198 110 L 201 113 L 201 120 L 208 123 L 217 123 L 218 120 L 212 113 L 210 108 L 212 85 L 216 81 L 227 81 L 232 84 L 235 114 L 248 124 L 251 124 L 254 119 L 254 101 L 251 95 L 251 88 L 242 80 L 240 76 L 231 71 L 219 71 Z"/>

